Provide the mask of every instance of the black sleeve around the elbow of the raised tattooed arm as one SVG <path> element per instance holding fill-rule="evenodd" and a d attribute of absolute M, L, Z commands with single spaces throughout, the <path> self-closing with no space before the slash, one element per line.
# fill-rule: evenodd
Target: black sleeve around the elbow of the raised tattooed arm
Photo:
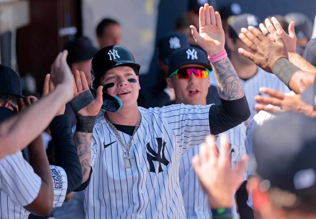
<path fill-rule="evenodd" d="M 221 99 L 221 102 L 210 107 L 209 122 L 212 135 L 234 128 L 250 117 L 246 96 L 238 100 Z"/>

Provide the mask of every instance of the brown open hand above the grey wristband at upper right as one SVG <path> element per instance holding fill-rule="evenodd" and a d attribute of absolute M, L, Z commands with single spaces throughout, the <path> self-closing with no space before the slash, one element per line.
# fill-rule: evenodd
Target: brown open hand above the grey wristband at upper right
<path fill-rule="evenodd" d="M 272 72 L 272 66 L 278 59 L 289 57 L 282 38 L 276 33 L 273 34 L 275 42 L 269 40 L 255 27 L 249 26 L 248 30 L 241 28 L 239 38 L 253 53 L 243 48 L 239 48 L 238 52 L 251 59 L 265 71 Z"/>

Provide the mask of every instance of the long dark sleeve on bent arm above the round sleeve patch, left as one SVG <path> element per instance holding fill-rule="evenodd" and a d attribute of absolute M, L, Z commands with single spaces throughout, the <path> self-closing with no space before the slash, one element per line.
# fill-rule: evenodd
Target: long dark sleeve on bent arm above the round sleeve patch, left
<path fill-rule="evenodd" d="M 55 145 L 56 165 L 67 174 L 68 187 L 66 194 L 74 191 L 82 182 L 82 170 L 77 150 L 72 139 L 68 115 L 56 116 L 49 129 Z"/>

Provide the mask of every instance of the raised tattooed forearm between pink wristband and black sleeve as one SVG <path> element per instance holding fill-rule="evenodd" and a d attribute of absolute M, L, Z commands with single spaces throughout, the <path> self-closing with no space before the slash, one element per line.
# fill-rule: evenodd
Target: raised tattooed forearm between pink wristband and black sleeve
<path fill-rule="evenodd" d="M 229 58 L 212 63 L 218 85 L 218 94 L 223 100 L 237 100 L 245 95 L 240 79 Z"/>

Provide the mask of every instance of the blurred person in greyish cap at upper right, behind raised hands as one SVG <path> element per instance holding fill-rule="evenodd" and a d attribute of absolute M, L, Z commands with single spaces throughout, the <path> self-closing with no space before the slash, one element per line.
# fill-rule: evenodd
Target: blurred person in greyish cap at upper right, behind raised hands
<path fill-rule="evenodd" d="M 299 12 L 289 13 L 284 18 L 288 23 L 294 21 L 297 38 L 296 52 L 302 56 L 307 42 L 312 37 L 313 23 L 306 15 Z"/>

